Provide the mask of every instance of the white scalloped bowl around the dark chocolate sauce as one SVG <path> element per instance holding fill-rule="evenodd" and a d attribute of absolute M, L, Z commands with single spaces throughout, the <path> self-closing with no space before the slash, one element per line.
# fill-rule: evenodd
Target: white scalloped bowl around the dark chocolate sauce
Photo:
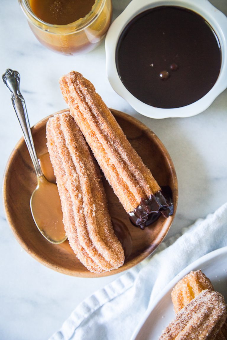
<path fill-rule="evenodd" d="M 153 107 L 134 97 L 121 82 L 117 72 L 115 54 L 118 39 L 126 25 L 136 15 L 158 6 L 180 6 L 202 16 L 213 28 L 221 47 L 222 63 L 214 86 L 196 102 L 177 108 Z M 106 36 L 106 69 L 112 88 L 137 112 L 150 118 L 190 117 L 205 111 L 227 87 L 227 17 L 208 0 L 132 0 L 111 24 Z"/>

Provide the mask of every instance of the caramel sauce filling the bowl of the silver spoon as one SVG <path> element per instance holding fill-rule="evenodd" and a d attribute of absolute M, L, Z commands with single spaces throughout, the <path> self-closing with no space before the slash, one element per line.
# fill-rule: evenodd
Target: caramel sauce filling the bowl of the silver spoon
<path fill-rule="evenodd" d="M 40 232 L 46 238 L 55 243 L 65 239 L 58 188 L 45 177 L 38 178 L 38 186 L 31 198 L 31 210 Z"/>

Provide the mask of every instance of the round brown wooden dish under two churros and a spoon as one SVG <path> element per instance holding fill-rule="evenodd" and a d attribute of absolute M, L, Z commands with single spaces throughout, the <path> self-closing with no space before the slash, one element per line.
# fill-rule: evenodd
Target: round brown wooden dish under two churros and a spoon
<path fill-rule="evenodd" d="M 62 110 L 61 113 L 67 110 Z M 126 226 L 126 260 L 122 267 L 103 274 L 88 271 L 72 252 L 68 241 L 56 245 L 49 243 L 38 231 L 30 211 L 30 197 L 37 185 L 36 174 L 23 138 L 19 140 L 6 166 L 3 197 L 6 218 L 22 247 L 43 265 L 58 272 L 80 276 L 100 277 L 123 272 L 150 255 L 166 236 L 174 216 L 178 201 L 177 177 L 173 162 L 159 138 L 137 119 L 111 110 L 127 138 L 141 156 L 146 166 L 160 186 L 169 186 L 173 192 L 174 214 L 141 230 L 133 226 L 112 188 L 104 179 L 108 207 L 111 218 L 117 218 Z M 47 152 L 46 123 L 49 117 L 32 128 L 38 157 Z"/>

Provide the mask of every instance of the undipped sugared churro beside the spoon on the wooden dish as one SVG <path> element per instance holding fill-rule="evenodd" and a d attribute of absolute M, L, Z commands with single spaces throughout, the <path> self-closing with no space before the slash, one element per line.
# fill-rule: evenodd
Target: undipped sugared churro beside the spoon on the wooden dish
<path fill-rule="evenodd" d="M 124 251 L 113 231 L 98 165 L 80 129 L 69 113 L 62 113 L 48 120 L 46 134 L 72 250 L 91 272 L 120 267 Z"/>

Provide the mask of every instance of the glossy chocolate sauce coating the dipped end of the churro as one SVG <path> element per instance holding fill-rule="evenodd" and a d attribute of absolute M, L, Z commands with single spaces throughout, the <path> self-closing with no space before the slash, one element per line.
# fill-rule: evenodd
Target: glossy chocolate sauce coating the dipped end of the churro
<path fill-rule="evenodd" d="M 160 216 L 169 217 L 173 215 L 174 206 L 172 201 L 172 190 L 170 187 L 162 187 L 161 191 L 151 194 L 146 200 L 141 199 L 134 211 L 129 213 L 132 224 L 144 229 L 156 222 Z"/>

